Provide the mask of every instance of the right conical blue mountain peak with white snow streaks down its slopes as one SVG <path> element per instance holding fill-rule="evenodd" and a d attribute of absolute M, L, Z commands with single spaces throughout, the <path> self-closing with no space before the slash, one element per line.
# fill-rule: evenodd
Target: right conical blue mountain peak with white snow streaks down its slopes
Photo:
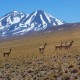
<path fill-rule="evenodd" d="M 24 18 L 19 23 L 19 28 L 14 33 L 15 35 L 23 35 L 29 31 L 44 30 L 47 27 L 62 25 L 63 21 L 47 14 L 42 10 L 31 13 L 27 18 Z"/>

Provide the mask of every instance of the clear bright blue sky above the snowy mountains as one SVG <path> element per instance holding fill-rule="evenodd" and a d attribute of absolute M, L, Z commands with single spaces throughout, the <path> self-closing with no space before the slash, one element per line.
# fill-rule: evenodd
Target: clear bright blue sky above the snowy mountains
<path fill-rule="evenodd" d="M 66 22 L 80 22 L 80 0 L 1 0 L 0 17 L 11 11 L 43 10 Z"/>

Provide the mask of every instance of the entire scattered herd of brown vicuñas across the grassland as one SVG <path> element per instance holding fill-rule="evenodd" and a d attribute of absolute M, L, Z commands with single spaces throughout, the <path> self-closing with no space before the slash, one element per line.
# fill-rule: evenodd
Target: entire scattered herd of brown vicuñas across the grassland
<path fill-rule="evenodd" d="M 57 49 L 59 49 L 59 50 L 61 50 L 61 49 L 69 49 L 71 46 L 72 46 L 72 44 L 73 44 L 73 40 L 72 41 L 70 41 L 70 42 L 61 42 L 60 44 L 58 44 L 58 45 L 56 45 L 55 46 L 55 50 L 57 50 Z M 45 50 L 45 48 L 46 48 L 46 46 L 47 46 L 47 43 L 45 43 L 43 46 L 41 46 L 41 47 L 39 47 L 39 52 L 41 53 L 41 54 L 43 54 L 44 53 L 44 50 Z M 10 55 L 10 53 L 11 53 L 11 50 L 12 49 L 10 49 L 8 52 L 4 52 L 3 53 L 3 57 L 5 57 L 5 56 L 8 56 L 9 57 L 9 55 Z"/>

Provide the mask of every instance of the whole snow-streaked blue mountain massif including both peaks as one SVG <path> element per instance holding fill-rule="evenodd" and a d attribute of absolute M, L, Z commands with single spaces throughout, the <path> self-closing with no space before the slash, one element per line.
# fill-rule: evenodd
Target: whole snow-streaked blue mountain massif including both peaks
<path fill-rule="evenodd" d="M 42 10 L 30 15 L 13 11 L 0 19 L 0 36 L 23 35 L 30 31 L 40 31 L 46 28 L 62 25 L 63 21 Z"/>

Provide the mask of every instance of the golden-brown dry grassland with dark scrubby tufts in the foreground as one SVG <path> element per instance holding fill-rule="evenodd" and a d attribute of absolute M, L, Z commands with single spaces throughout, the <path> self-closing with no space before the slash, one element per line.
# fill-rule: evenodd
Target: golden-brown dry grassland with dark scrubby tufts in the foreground
<path fill-rule="evenodd" d="M 55 51 L 56 44 L 71 40 L 70 49 Z M 44 43 L 47 46 L 40 54 Z M 10 56 L 4 58 L 10 48 Z M 0 42 L 0 80 L 80 80 L 79 30 Z"/>

